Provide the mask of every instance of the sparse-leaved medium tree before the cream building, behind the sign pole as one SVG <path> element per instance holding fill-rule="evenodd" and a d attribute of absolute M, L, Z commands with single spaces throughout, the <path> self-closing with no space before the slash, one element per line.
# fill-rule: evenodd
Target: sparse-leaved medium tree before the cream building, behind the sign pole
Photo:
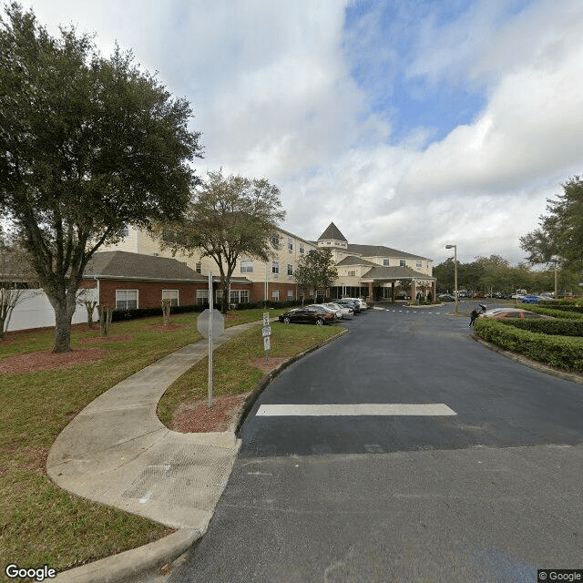
<path fill-rule="evenodd" d="M 280 189 L 267 179 L 223 176 L 210 171 L 195 189 L 185 220 L 165 221 L 153 230 L 162 247 L 210 257 L 217 264 L 222 311 L 229 309 L 230 279 L 240 258 L 270 261 L 272 239 L 285 218 Z"/>

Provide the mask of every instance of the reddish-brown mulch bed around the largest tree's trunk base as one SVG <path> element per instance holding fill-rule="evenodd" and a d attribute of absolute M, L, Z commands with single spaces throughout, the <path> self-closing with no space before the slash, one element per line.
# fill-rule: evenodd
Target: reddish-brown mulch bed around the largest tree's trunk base
<path fill-rule="evenodd" d="M 70 353 L 53 353 L 49 350 L 38 353 L 15 354 L 0 361 L 0 373 L 33 373 L 69 368 L 78 363 L 98 361 L 107 354 L 104 348 L 79 348 Z"/>

